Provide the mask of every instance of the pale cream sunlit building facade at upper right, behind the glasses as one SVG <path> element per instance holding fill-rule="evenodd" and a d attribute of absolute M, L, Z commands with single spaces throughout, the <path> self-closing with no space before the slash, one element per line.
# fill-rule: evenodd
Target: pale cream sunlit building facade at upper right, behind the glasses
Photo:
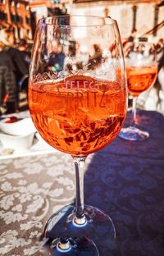
<path fill-rule="evenodd" d="M 73 0 L 68 10 L 72 15 L 111 16 L 118 22 L 121 37 L 127 38 L 132 33 L 139 36 L 152 30 L 164 21 L 162 0 Z M 152 36 L 164 38 L 164 24 L 154 30 Z"/>

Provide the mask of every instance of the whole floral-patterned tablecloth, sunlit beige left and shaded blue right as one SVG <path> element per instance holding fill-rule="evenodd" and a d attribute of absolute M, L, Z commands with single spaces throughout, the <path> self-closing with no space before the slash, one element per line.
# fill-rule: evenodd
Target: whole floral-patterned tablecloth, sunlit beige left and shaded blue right
<path fill-rule="evenodd" d="M 127 118 L 128 121 L 128 118 Z M 139 112 L 150 138 L 120 138 L 87 158 L 85 203 L 103 209 L 116 242 L 100 239 L 100 256 L 164 255 L 164 117 Z M 75 199 L 71 156 L 57 152 L 0 162 L 0 255 L 43 255 L 43 226 Z"/>

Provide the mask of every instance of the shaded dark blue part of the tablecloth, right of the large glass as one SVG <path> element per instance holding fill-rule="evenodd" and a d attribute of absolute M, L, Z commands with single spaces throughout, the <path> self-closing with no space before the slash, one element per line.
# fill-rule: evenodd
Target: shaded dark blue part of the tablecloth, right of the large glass
<path fill-rule="evenodd" d="M 164 255 L 164 117 L 138 111 L 138 125 L 148 139 L 117 137 L 94 154 L 86 172 L 86 203 L 103 208 L 116 226 L 116 247 L 100 245 L 100 255 Z"/>

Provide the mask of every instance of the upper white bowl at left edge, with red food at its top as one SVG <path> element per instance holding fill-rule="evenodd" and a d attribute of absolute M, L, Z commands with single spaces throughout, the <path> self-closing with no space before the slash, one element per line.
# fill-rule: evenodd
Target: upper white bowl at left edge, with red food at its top
<path fill-rule="evenodd" d="M 0 130 L 8 135 L 30 135 L 36 131 L 33 121 L 30 117 L 6 123 L 7 118 L 0 121 Z"/>

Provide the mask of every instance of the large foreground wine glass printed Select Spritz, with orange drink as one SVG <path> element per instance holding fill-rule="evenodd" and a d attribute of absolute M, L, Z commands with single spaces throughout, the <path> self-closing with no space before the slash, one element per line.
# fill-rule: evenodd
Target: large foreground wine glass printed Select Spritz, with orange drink
<path fill-rule="evenodd" d="M 94 242 L 100 232 L 110 241 L 116 231 L 106 213 L 84 205 L 84 163 L 116 138 L 125 121 L 125 63 L 116 21 L 97 16 L 39 20 L 29 107 L 43 139 L 71 154 L 75 164 L 75 206 L 48 220 L 43 231 L 48 255 L 99 255 Z"/>

